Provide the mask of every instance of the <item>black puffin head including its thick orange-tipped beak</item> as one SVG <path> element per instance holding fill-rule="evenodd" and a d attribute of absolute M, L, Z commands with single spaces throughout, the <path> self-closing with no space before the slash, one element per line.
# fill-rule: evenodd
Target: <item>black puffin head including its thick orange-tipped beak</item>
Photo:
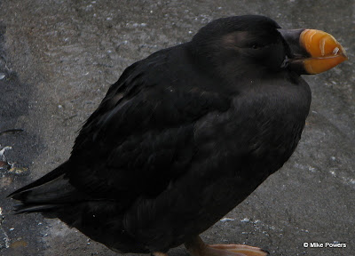
<path fill-rule="evenodd" d="M 193 36 L 193 55 L 222 76 L 263 76 L 284 70 L 318 74 L 347 60 L 335 38 L 315 29 L 283 29 L 243 15 L 211 21 Z"/>

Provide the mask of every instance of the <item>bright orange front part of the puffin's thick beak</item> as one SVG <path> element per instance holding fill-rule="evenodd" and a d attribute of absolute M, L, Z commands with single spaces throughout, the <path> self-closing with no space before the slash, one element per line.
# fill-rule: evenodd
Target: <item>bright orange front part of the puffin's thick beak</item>
<path fill-rule="evenodd" d="M 319 74 L 348 60 L 342 45 L 326 32 L 304 29 L 300 35 L 300 44 L 311 55 L 303 60 L 308 74 Z"/>

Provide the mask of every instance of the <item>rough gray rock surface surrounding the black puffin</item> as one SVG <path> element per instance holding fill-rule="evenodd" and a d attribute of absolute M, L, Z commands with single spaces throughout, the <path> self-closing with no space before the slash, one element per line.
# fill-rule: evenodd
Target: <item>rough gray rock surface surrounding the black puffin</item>
<path fill-rule="evenodd" d="M 0 161 L 13 166 L 0 162 L 0 254 L 118 255 L 59 220 L 12 215 L 5 196 L 65 161 L 124 68 L 189 40 L 210 20 L 251 13 L 283 28 L 325 30 L 350 60 L 305 77 L 312 109 L 296 153 L 202 238 L 272 255 L 355 255 L 354 11 L 354 0 L 0 2 L 0 150 L 12 147 Z M 334 241 L 346 248 L 326 248 Z M 324 248 L 304 247 L 311 242 Z"/>

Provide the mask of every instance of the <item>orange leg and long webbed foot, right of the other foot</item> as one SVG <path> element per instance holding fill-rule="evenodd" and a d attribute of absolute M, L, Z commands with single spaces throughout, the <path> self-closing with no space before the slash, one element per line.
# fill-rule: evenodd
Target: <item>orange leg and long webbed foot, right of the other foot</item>
<path fill-rule="evenodd" d="M 200 236 L 185 243 L 192 256 L 267 256 L 269 252 L 245 244 L 205 244 Z"/>

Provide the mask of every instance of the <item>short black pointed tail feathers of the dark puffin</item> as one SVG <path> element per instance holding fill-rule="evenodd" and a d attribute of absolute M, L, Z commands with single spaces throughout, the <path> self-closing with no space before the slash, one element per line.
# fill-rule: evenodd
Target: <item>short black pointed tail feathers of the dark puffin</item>
<path fill-rule="evenodd" d="M 21 203 L 15 206 L 14 211 L 48 212 L 62 205 L 83 201 L 86 196 L 70 184 L 66 177 L 67 168 L 68 162 L 61 164 L 39 180 L 10 194 Z"/>

